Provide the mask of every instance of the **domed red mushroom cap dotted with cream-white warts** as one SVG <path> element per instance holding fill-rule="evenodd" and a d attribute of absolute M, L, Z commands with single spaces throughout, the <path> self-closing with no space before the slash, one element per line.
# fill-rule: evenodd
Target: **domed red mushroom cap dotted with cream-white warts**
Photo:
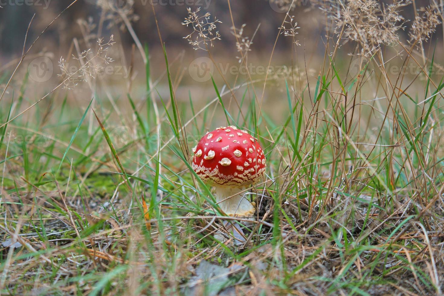
<path fill-rule="evenodd" d="M 208 132 L 193 153 L 193 170 L 211 185 L 249 185 L 265 171 L 265 155 L 258 139 L 235 126 Z"/>

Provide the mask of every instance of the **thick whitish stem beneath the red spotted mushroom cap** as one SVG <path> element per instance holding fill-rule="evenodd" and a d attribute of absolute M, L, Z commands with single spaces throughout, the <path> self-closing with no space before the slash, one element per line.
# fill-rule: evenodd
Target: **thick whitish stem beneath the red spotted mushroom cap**
<path fill-rule="evenodd" d="M 244 197 L 246 189 L 239 187 L 214 186 L 216 202 L 224 213 L 232 217 L 249 217 L 254 215 L 254 206 Z M 241 193 L 242 192 L 242 193 Z"/>

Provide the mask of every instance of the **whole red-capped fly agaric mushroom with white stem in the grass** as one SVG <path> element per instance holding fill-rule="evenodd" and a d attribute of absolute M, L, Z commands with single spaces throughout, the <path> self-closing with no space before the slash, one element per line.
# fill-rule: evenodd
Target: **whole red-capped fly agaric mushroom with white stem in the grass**
<path fill-rule="evenodd" d="M 241 192 L 265 171 L 265 155 L 258 139 L 235 126 L 221 126 L 203 136 L 193 153 L 193 170 L 215 187 L 222 211 L 233 217 L 252 216 L 254 206 Z"/>

